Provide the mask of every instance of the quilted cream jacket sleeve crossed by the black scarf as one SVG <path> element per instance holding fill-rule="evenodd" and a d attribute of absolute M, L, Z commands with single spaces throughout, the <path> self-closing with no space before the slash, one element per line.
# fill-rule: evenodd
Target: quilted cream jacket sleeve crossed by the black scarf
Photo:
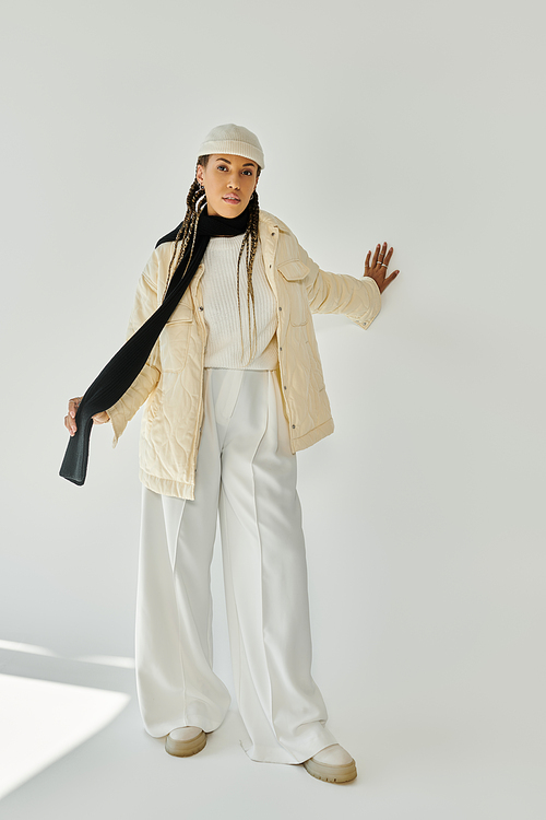
<path fill-rule="evenodd" d="M 157 308 L 158 258 L 154 251 L 147 262 L 136 288 L 136 296 L 129 319 L 127 338 L 129 339 Z M 139 373 L 131 387 L 108 409 L 115 447 L 128 422 L 155 389 L 161 376 L 159 342 L 156 341 L 146 364 Z"/>

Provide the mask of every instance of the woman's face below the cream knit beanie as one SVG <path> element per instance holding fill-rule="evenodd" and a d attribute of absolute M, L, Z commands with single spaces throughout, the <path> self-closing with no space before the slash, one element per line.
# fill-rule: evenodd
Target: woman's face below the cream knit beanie
<path fill-rule="evenodd" d="M 210 216 L 238 216 L 258 185 L 258 164 L 245 156 L 211 154 L 206 167 L 198 165 L 195 177 L 206 194 Z"/>

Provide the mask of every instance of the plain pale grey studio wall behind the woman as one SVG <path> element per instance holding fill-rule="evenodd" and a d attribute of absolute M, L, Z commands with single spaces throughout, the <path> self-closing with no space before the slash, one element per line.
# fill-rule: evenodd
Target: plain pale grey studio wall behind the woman
<path fill-rule="evenodd" d="M 200 140 L 235 121 L 265 150 L 262 207 L 322 268 L 359 277 L 384 239 L 402 270 L 368 331 L 316 321 L 336 432 L 298 464 L 332 718 L 376 719 L 381 692 L 392 721 L 531 731 L 539 4 L 4 0 L 2 17 L 1 637 L 132 655 L 139 422 L 114 452 L 94 431 L 79 489 L 57 476 L 62 417 L 124 338 Z M 221 601 L 217 562 L 214 587 Z M 221 617 L 216 639 L 228 680 Z"/>

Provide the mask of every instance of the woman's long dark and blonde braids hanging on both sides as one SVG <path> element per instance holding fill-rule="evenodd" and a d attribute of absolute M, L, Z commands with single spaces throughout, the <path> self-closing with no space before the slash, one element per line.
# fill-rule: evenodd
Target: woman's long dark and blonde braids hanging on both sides
<path fill-rule="evenodd" d="M 207 162 L 209 162 L 209 155 L 198 157 L 198 165 L 202 165 L 203 167 L 206 167 Z M 260 166 L 258 166 L 258 174 L 257 174 L 258 177 L 260 176 L 260 171 L 261 168 Z M 191 248 L 190 248 L 189 258 L 191 259 L 191 255 L 193 253 L 193 246 L 195 244 L 195 236 L 198 233 L 199 218 L 205 207 L 206 207 L 206 198 L 205 198 L 204 188 L 202 188 L 200 183 L 198 183 L 198 180 L 194 179 L 190 186 L 188 196 L 186 198 L 186 215 L 176 235 L 175 247 L 173 249 L 173 256 L 170 258 L 170 265 L 168 269 L 167 282 L 165 284 L 165 293 L 167 292 L 167 288 L 169 285 L 171 276 L 174 271 L 177 269 L 178 265 L 180 263 L 183 255 L 186 254 L 186 250 L 188 249 L 188 245 L 190 245 L 190 243 L 191 243 Z M 239 257 L 237 259 L 237 305 L 239 308 L 239 318 L 240 318 L 241 363 L 242 363 L 245 343 L 244 343 L 244 338 L 242 338 L 242 319 L 240 316 L 239 267 L 240 267 L 242 255 L 245 254 L 245 261 L 247 266 L 247 312 L 248 312 L 248 325 L 249 325 L 249 338 L 250 338 L 250 352 L 249 352 L 249 359 L 248 359 L 247 364 L 249 364 L 252 361 L 256 354 L 257 333 L 258 333 L 257 327 L 256 327 L 256 306 L 254 306 L 254 289 L 252 285 L 252 266 L 254 263 L 256 253 L 258 250 L 259 222 L 260 222 L 260 206 L 258 202 L 258 194 L 254 190 L 252 196 L 250 197 L 249 219 L 248 219 L 247 231 L 245 233 L 245 236 L 242 237 L 242 244 L 240 246 Z M 189 260 L 188 260 L 188 263 L 189 263 Z M 165 293 L 164 293 L 164 297 L 165 297 Z M 252 305 L 252 312 L 250 309 L 251 305 Z M 253 320 L 252 330 L 250 330 L 251 313 L 252 313 L 252 320 Z"/>

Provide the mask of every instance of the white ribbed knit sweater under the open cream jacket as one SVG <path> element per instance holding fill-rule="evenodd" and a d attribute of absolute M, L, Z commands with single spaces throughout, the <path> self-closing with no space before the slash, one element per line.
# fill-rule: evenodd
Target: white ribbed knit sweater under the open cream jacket
<path fill-rule="evenodd" d="M 245 254 L 239 266 L 240 319 L 237 304 L 237 259 L 241 243 L 242 235 L 213 236 L 203 256 L 204 273 L 201 279 L 201 292 L 204 319 L 209 329 L 204 366 L 229 370 L 275 370 L 278 362 L 276 344 L 278 316 L 275 296 L 265 276 L 260 244 L 258 244 L 252 266 L 257 345 L 254 358 L 251 362 L 248 361 L 250 337 Z M 253 325 L 252 308 L 250 321 Z"/>

